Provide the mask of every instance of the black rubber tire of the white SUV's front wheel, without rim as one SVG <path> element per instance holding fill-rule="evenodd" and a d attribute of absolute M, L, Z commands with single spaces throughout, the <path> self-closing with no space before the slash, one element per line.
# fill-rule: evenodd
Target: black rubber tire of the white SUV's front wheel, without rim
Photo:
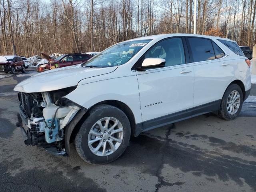
<path fill-rule="evenodd" d="M 114 151 L 112 154 L 108 156 L 97 156 L 96 154 L 92 153 L 88 146 L 88 134 L 92 128 L 92 126 L 100 119 L 105 117 L 113 117 L 119 120 L 123 127 L 123 140 L 120 146 Z M 94 107 L 91 111 L 89 116 L 83 122 L 82 126 L 80 127 L 79 132 L 75 138 L 75 147 L 78 155 L 86 162 L 90 164 L 106 164 L 116 160 L 126 149 L 128 146 L 129 140 L 131 135 L 131 128 L 130 122 L 122 112 L 122 110 L 110 106 L 110 105 L 100 105 Z"/>

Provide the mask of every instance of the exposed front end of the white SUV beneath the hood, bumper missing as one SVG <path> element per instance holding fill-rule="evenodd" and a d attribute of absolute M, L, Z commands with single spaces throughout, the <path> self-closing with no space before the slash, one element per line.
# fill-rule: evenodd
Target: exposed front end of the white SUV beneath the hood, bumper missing
<path fill-rule="evenodd" d="M 81 109 L 64 96 L 75 87 L 38 93 L 19 92 L 19 126 L 26 133 L 26 145 L 56 148 L 65 154 L 64 128 Z"/>

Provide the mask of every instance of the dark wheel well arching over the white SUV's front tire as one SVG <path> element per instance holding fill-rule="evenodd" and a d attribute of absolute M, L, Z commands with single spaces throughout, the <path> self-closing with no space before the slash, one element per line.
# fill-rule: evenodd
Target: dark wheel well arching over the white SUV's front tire
<path fill-rule="evenodd" d="M 131 125 L 131 134 L 132 134 L 132 136 L 134 136 L 136 123 L 135 123 L 135 118 L 134 118 L 134 115 L 132 113 L 132 110 L 126 104 L 124 104 L 123 102 L 120 102 L 118 100 L 106 100 L 106 101 L 102 101 L 102 102 L 99 102 L 99 103 L 93 105 L 92 107 L 90 107 L 86 111 L 84 116 L 81 118 L 81 120 L 78 122 L 78 124 L 76 124 L 74 130 L 72 131 L 72 134 L 70 136 L 70 141 L 74 140 L 74 138 L 76 137 L 76 134 L 78 133 L 78 131 L 79 131 L 81 125 L 83 124 L 84 120 L 90 115 L 90 111 L 95 106 L 102 105 L 102 104 L 111 105 L 111 106 L 114 106 L 114 107 L 122 110 L 122 112 L 124 112 L 126 114 L 126 116 L 128 117 L 128 120 L 129 120 L 130 125 Z"/>

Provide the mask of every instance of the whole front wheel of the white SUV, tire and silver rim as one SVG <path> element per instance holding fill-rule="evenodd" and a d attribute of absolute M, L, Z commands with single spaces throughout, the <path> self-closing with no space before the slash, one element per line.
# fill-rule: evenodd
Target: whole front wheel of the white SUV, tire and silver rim
<path fill-rule="evenodd" d="M 122 110 L 110 105 L 96 106 L 76 135 L 76 151 L 90 164 L 106 164 L 124 152 L 130 134 L 130 122 Z"/>

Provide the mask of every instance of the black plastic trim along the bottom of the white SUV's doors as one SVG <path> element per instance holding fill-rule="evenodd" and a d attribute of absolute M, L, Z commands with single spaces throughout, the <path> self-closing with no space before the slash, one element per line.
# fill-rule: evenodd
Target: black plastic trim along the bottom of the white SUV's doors
<path fill-rule="evenodd" d="M 142 123 L 138 123 L 136 124 L 135 136 L 138 136 L 140 132 L 166 126 L 168 124 L 172 124 L 178 121 L 182 121 L 209 112 L 214 112 L 220 108 L 220 103 L 221 99 L 200 106 L 196 106 L 194 108 L 190 108 L 166 116 L 158 117 L 152 120 L 144 121 Z M 141 124 L 143 126 L 143 130 L 141 129 Z"/>

